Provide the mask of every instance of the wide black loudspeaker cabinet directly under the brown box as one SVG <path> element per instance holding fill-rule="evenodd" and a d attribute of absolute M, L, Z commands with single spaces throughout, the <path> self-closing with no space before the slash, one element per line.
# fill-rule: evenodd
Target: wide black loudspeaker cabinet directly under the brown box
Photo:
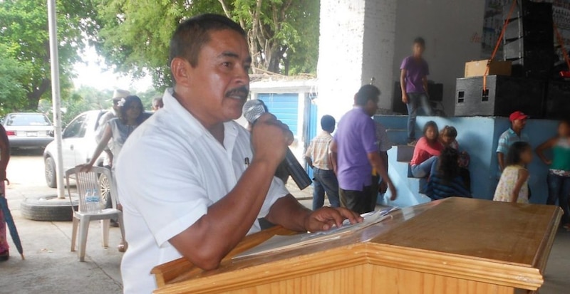
<path fill-rule="evenodd" d="M 504 116 L 520 110 L 531 117 L 542 117 L 544 82 L 505 75 L 458 78 L 455 85 L 455 116 Z"/>

